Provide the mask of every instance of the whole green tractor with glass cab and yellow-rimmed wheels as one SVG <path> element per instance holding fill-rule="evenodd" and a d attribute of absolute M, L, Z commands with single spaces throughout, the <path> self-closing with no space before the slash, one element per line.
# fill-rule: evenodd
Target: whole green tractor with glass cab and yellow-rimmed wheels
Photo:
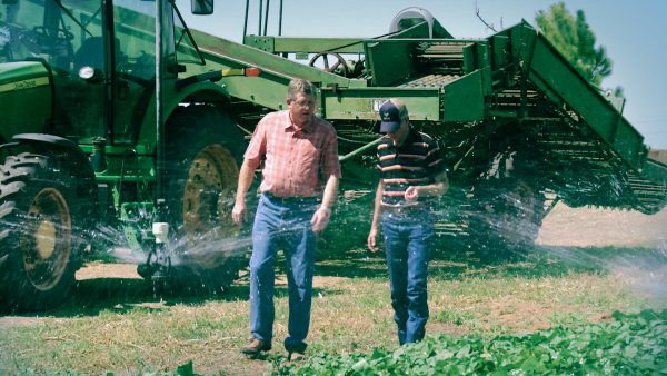
<path fill-rule="evenodd" d="M 181 287 L 238 276 L 245 248 L 225 240 L 243 136 L 222 87 L 173 83 L 202 66 L 171 1 L 1 2 L 1 308 L 57 305 L 87 253 L 111 247 Z"/>

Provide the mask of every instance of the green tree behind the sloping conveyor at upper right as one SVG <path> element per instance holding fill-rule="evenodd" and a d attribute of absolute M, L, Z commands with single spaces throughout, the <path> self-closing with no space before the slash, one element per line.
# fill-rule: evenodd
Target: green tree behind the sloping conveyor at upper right
<path fill-rule="evenodd" d="M 540 10 L 535 17 L 544 36 L 570 61 L 584 77 L 600 87 L 603 79 L 611 75 L 611 59 L 604 46 L 596 47 L 595 33 L 586 22 L 583 10 L 574 17 L 565 2 L 551 4 L 548 11 Z M 621 93 L 620 87 L 615 89 Z"/>

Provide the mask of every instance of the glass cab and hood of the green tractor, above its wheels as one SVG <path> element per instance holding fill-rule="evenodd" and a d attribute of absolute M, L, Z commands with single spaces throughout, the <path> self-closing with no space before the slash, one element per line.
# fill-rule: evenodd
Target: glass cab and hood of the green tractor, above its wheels
<path fill-rule="evenodd" d="M 160 4 L 162 79 L 176 79 L 203 59 L 175 4 Z M 31 131 L 136 144 L 156 88 L 155 14 L 155 1 L 2 0 L 0 85 L 14 90 L 0 92 L 12 107 L 0 140 Z M 50 107 L 26 108 L 36 102 Z"/>

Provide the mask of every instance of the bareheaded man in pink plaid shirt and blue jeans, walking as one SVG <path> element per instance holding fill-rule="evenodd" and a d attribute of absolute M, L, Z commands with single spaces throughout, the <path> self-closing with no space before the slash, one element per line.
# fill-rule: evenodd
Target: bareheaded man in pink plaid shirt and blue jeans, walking
<path fill-rule="evenodd" d="M 276 251 L 287 260 L 288 358 L 302 358 L 310 325 L 316 234 L 323 230 L 336 201 L 340 166 L 334 127 L 317 117 L 316 88 L 295 79 L 287 91 L 288 110 L 267 115 L 257 125 L 239 172 L 235 224 L 247 216 L 246 192 L 263 162 L 261 197 L 252 227 L 250 258 L 251 342 L 241 352 L 256 358 L 271 349 L 275 319 Z M 320 197 L 321 196 L 321 204 Z"/>

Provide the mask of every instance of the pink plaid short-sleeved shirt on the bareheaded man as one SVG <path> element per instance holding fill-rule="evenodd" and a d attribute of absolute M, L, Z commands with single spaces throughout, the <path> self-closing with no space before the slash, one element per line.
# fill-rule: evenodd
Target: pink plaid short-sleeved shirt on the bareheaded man
<path fill-rule="evenodd" d="M 243 157 L 251 168 L 263 161 L 259 189 L 279 197 L 319 196 L 329 176 L 340 178 L 334 126 L 315 118 L 297 131 L 288 110 L 259 121 Z"/>

